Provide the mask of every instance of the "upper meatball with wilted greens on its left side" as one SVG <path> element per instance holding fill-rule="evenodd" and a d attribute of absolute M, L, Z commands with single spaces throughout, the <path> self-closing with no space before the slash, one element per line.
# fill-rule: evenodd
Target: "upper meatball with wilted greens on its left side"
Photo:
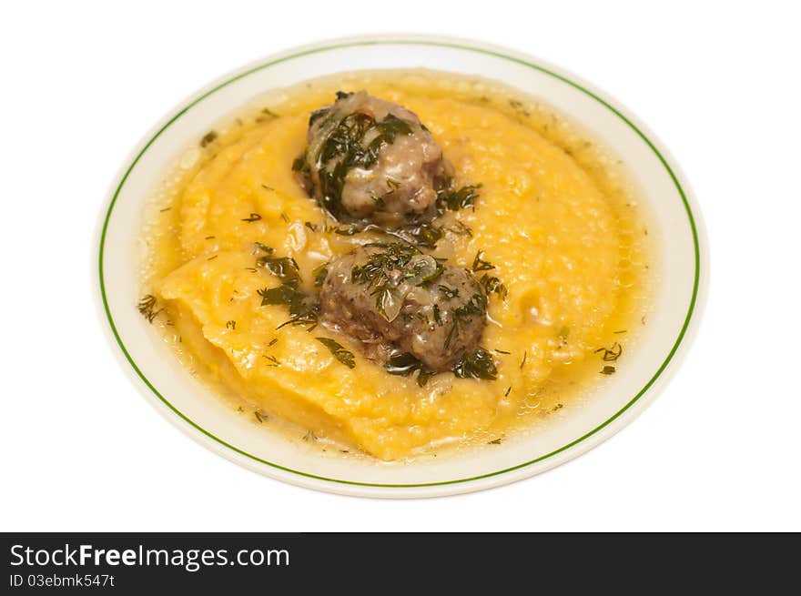
<path fill-rule="evenodd" d="M 366 91 L 337 94 L 309 118 L 295 162 L 309 196 L 332 217 L 400 227 L 435 215 L 450 163 L 420 118 Z"/>

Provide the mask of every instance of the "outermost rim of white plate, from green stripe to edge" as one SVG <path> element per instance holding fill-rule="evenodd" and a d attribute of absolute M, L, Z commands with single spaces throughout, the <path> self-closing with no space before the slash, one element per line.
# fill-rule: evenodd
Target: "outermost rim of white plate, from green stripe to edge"
<path fill-rule="evenodd" d="M 674 340 L 672 348 L 665 356 L 662 364 L 658 367 L 658 369 L 655 370 L 651 379 L 644 384 L 642 389 L 637 391 L 632 399 L 628 400 L 621 409 L 618 409 L 611 417 L 605 419 L 601 424 L 584 433 L 581 437 L 566 443 L 557 450 L 552 450 L 549 453 L 543 454 L 533 460 L 527 460 L 514 466 L 503 468 L 502 470 L 495 470 L 465 478 L 439 480 L 436 482 L 381 483 L 364 482 L 358 480 L 342 480 L 320 476 L 318 474 L 312 474 L 302 470 L 294 470 L 287 466 L 282 466 L 281 464 L 264 460 L 259 458 L 259 456 L 239 449 L 235 445 L 228 443 L 226 440 L 218 438 L 212 432 L 204 429 L 182 411 L 177 409 L 166 397 L 161 394 L 161 392 L 158 391 L 158 389 L 156 389 L 150 380 L 147 379 L 147 376 L 141 371 L 141 369 L 139 369 L 136 361 L 128 352 L 125 343 L 117 331 L 117 326 L 114 322 L 114 318 L 111 314 L 111 310 L 106 299 L 106 284 L 103 270 L 108 222 L 111 218 L 114 207 L 117 204 L 117 197 L 122 191 L 122 188 L 125 186 L 127 178 L 137 166 L 139 159 L 144 156 L 149 147 L 152 146 L 156 141 L 158 136 L 161 136 L 161 134 L 164 133 L 169 126 L 172 126 L 181 116 L 187 113 L 191 107 L 196 106 L 206 97 L 216 93 L 219 89 L 228 86 L 241 78 L 249 76 L 264 68 L 275 66 L 281 62 L 285 62 L 299 56 L 306 56 L 309 54 L 335 50 L 343 47 L 393 44 L 449 47 L 461 51 L 475 52 L 478 54 L 498 57 L 522 66 L 530 67 L 547 76 L 553 76 L 563 83 L 573 86 L 583 94 L 590 96 L 593 100 L 610 110 L 613 115 L 623 120 L 624 124 L 629 126 L 634 133 L 639 136 L 647 146 L 649 146 L 655 157 L 657 157 L 659 162 L 665 168 L 667 174 L 674 184 L 676 191 L 678 192 L 679 197 L 681 197 L 684 206 L 684 213 L 688 218 L 690 230 L 692 232 L 694 245 L 695 271 L 693 292 L 682 328 L 680 329 L 678 336 Z M 523 478 L 528 478 L 537 472 L 549 470 L 555 465 L 563 463 L 566 460 L 572 460 L 574 457 L 581 455 L 583 452 L 596 447 L 602 443 L 603 440 L 609 439 L 615 432 L 625 426 L 621 420 L 621 417 L 623 417 L 624 414 L 628 413 L 630 415 L 628 417 L 628 421 L 631 421 L 631 419 L 634 419 L 634 417 L 638 415 L 645 406 L 649 405 L 654 400 L 658 394 L 658 390 L 664 387 L 664 382 L 668 380 L 670 376 L 672 376 L 676 365 L 681 359 L 683 359 L 686 349 L 689 347 L 691 340 L 695 336 L 698 320 L 701 318 L 704 310 L 706 294 L 705 290 L 708 278 L 708 273 L 706 273 L 708 271 L 708 248 L 706 244 L 704 222 L 700 215 L 700 210 L 695 202 L 695 196 L 689 184 L 687 183 L 686 177 L 684 177 L 683 172 L 678 167 L 674 158 L 662 145 L 658 137 L 655 136 L 647 126 L 644 126 L 644 124 L 639 121 L 639 119 L 634 116 L 631 111 L 628 110 L 628 108 L 624 107 L 624 104 L 617 101 L 609 94 L 594 87 L 592 84 L 584 81 L 580 76 L 575 76 L 573 73 L 570 73 L 562 67 L 554 66 L 534 56 L 528 56 L 499 45 L 442 35 L 360 35 L 351 37 L 338 37 L 323 40 L 314 44 L 295 46 L 285 51 L 262 57 L 259 60 L 249 63 L 247 66 L 242 66 L 238 69 L 228 72 L 228 74 L 224 76 L 220 76 L 218 79 L 208 84 L 208 86 L 201 87 L 197 92 L 188 96 L 188 98 L 184 99 L 176 107 L 168 111 L 167 116 L 164 116 L 156 126 L 147 131 L 147 134 L 142 137 L 135 149 L 123 161 L 122 167 L 120 167 L 117 175 L 113 179 L 113 183 L 109 191 L 106 193 L 106 202 L 101 208 L 99 214 L 96 241 L 93 243 L 93 247 L 96 247 L 97 259 L 96 278 L 94 275 L 93 278 L 95 278 L 99 289 L 99 292 L 96 292 L 96 301 L 98 310 L 100 311 L 100 318 L 106 331 L 106 336 L 109 337 L 110 341 L 113 339 L 111 343 L 113 347 L 116 346 L 118 349 L 118 351 L 115 349 L 117 356 L 124 357 L 124 359 L 121 359 L 121 362 L 127 363 L 128 366 L 124 365 L 124 368 L 127 369 L 127 372 L 129 374 L 131 372 L 135 373 L 135 375 L 131 375 L 131 378 L 134 379 L 135 382 L 137 380 L 139 381 L 136 382 L 138 389 L 141 390 L 147 388 L 147 391 L 145 392 L 147 393 L 148 397 L 151 399 L 154 397 L 157 398 L 157 403 L 167 407 L 167 410 L 162 409 L 165 415 L 167 415 L 167 411 L 171 411 L 173 414 L 177 415 L 178 419 L 183 420 L 183 422 L 188 424 L 191 429 L 194 429 L 200 433 L 199 436 L 196 433 L 193 433 L 196 434 L 196 436 L 193 437 L 194 439 L 202 439 L 202 444 L 205 446 L 211 448 L 219 455 L 222 455 L 229 460 L 234 460 L 236 463 L 246 464 L 246 467 L 248 467 L 250 470 L 260 471 L 263 473 L 272 471 L 273 478 L 277 478 L 278 480 L 286 480 L 290 483 L 299 484 L 300 486 L 305 486 L 307 488 L 328 490 L 356 496 L 379 496 L 390 498 L 455 494 L 456 492 L 481 490 L 483 488 L 490 488 L 492 486 L 496 486 L 497 484 L 505 483 L 498 482 L 497 480 L 499 479 L 508 480 L 509 482 L 514 480 L 522 480 Z M 702 275 L 702 271 L 705 273 L 705 275 Z M 108 331 L 111 332 L 110 336 Z M 655 387 L 657 381 L 659 381 L 660 384 L 660 387 L 658 388 Z M 144 384 L 144 387 L 142 384 Z M 646 397 L 648 399 L 644 399 Z M 633 410 L 634 405 L 639 406 L 637 411 Z M 178 422 L 177 419 L 172 417 L 167 416 L 167 418 L 174 423 Z M 617 424 L 613 424 L 615 422 L 617 422 Z M 578 447 L 578 449 L 573 450 L 573 448 L 576 447 Z M 564 452 L 568 450 L 573 450 L 573 452 L 570 454 L 571 457 L 566 459 L 563 457 L 554 460 L 555 456 L 564 454 Z M 238 458 L 245 458 L 245 460 L 239 461 Z M 535 464 L 546 460 L 551 460 L 549 462 L 551 465 L 547 465 L 540 470 L 532 468 Z M 265 468 L 265 466 L 267 466 L 267 468 Z M 531 468 L 530 473 L 522 476 L 512 475 L 512 472 L 525 470 L 526 468 Z M 281 472 L 289 473 L 289 477 L 285 477 L 283 474 L 280 476 L 276 475 L 280 474 Z M 309 480 L 312 480 L 313 482 L 309 482 Z M 482 480 L 487 482 L 481 483 Z M 323 482 L 325 484 L 320 486 L 318 482 Z M 441 487 L 446 487 L 446 490 L 436 493 L 427 491 L 426 494 L 408 494 L 407 492 L 411 489 L 436 489 Z M 386 494 L 376 494 L 375 492 L 367 491 L 359 492 L 359 489 L 391 489 L 392 491 Z"/>

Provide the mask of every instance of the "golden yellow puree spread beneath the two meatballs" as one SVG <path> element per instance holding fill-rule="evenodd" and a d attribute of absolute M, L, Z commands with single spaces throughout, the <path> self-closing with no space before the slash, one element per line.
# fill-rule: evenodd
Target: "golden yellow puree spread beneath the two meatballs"
<path fill-rule="evenodd" d="M 508 288 L 505 300 L 490 298 L 482 339 L 497 380 L 444 373 L 421 388 L 326 328 L 277 329 L 287 308 L 260 306 L 258 290 L 279 280 L 256 268 L 254 242 L 295 258 L 311 290 L 312 269 L 368 238 L 327 230 L 336 222 L 291 171 L 309 112 L 337 89 L 361 88 L 417 113 L 460 186 L 482 184 L 475 209 L 455 215 L 471 236 L 449 216 L 438 253 L 469 268 L 481 250 Z M 179 158 L 149 207 L 143 294 L 165 307 L 154 323 L 188 366 L 255 412 L 255 423 L 286 419 L 307 439 L 382 460 L 497 443 L 556 410 L 566 415 L 576 396 L 625 366 L 652 283 L 642 207 L 620 168 L 553 110 L 485 81 L 427 71 L 312 81 L 256 102 Z M 350 349 L 356 367 L 318 337 Z M 615 342 L 624 350 L 616 361 Z"/>

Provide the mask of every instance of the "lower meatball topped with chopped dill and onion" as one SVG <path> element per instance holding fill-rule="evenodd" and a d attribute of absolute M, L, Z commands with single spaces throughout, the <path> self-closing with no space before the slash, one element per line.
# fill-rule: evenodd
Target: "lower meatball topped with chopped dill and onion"
<path fill-rule="evenodd" d="M 400 242 L 332 261 L 320 291 L 320 320 L 359 339 L 368 357 L 386 364 L 409 353 L 435 372 L 478 347 L 486 308 L 470 273 Z"/>

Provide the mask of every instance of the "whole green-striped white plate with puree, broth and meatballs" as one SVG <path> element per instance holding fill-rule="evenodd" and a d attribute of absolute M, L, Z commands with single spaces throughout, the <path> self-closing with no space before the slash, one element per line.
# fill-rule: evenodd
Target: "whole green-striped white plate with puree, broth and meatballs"
<path fill-rule="evenodd" d="M 410 498 L 610 437 L 687 349 L 698 208 L 562 69 L 471 41 L 333 40 L 154 126 L 100 217 L 98 303 L 147 399 L 278 480 Z"/>

